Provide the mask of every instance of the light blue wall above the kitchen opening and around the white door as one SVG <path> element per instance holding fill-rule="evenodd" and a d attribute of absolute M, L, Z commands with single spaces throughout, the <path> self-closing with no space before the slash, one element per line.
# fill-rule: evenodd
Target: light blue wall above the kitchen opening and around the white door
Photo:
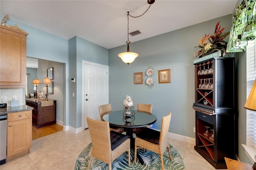
<path fill-rule="evenodd" d="M 0 19 L 2 20 L 3 17 L 0 16 Z M 16 23 L 18 28 L 29 33 L 27 36 L 28 57 L 65 63 L 64 125 L 74 128 L 81 127 L 82 60 L 108 65 L 108 49 L 79 37 L 66 40 L 14 20 L 8 19 L 5 22 L 11 26 Z M 69 69 L 71 70 L 69 71 Z M 71 77 L 76 78 L 75 84 L 71 83 Z M 71 87 L 69 87 L 70 85 Z M 74 98 L 72 92 L 76 93 Z M 25 96 L 25 89 L 23 93 Z"/>

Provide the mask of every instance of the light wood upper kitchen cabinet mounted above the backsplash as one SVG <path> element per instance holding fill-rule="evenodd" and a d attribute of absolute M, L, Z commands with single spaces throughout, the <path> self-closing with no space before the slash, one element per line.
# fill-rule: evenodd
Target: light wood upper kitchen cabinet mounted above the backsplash
<path fill-rule="evenodd" d="M 0 26 L 0 88 L 25 88 L 27 35 Z"/>

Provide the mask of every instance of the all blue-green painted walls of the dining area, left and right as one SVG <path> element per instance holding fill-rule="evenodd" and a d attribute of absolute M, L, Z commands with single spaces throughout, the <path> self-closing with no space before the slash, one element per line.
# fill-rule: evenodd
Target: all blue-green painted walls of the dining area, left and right
<path fill-rule="evenodd" d="M 2 20 L 3 16 L 1 16 Z M 231 28 L 232 15 L 216 18 L 207 22 L 168 32 L 130 44 L 130 51 L 139 53 L 139 57 L 130 65 L 126 65 L 117 56 L 126 51 L 126 45 L 113 49 L 104 49 L 78 37 L 65 40 L 42 30 L 32 28 L 19 22 L 8 20 L 6 24 L 18 23 L 19 28 L 26 30 L 27 56 L 66 63 L 66 103 L 64 125 L 74 128 L 81 127 L 82 103 L 82 60 L 109 65 L 109 103 L 113 110 L 123 107 L 124 97 L 132 96 L 134 106 L 137 103 L 153 104 L 153 112 L 158 120 L 154 128 L 160 129 L 160 117 L 172 112 L 169 132 L 194 138 L 195 113 L 194 103 L 194 65 L 193 54 L 198 51 L 198 39 L 204 34 L 212 34 L 220 20 L 220 25 Z M 132 41 L 132 37 L 130 38 Z M 241 144 L 246 143 L 246 112 L 243 105 L 246 101 L 246 59 L 244 53 L 235 55 L 238 76 L 238 157 L 241 161 L 250 163 Z M 74 62 L 72 60 L 75 59 Z M 149 89 L 146 84 L 146 70 L 154 68 L 154 87 Z M 158 83 L 158 70 L 171 69 L 171 83 Z M 76 73 L 74 73 L 76 72 Z M 143 72 L 144 84 L 133 84 L 133 73 Z M 76 85 L 71 85 L 71 78 L 76 78 Z M 80 84 L 80 85 L 78 85 Z M 71 99 L 72 92 L 78 95 Z M 70 107 L 69 107 L 70 106 Z M 74 111 L 73 106 L 76 106 Z M 136 107 L 137 108 L 137 107 Z"/>

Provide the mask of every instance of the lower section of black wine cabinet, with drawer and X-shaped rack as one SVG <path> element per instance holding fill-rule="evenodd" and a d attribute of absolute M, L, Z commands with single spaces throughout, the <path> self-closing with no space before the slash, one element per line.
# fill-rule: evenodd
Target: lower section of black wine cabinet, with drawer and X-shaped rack
<path fill-rule="evenodd" d="M 238 138 L 236 115 L 196 111 L 194 148 L 216 169 L 226 169 L 224 157 L 236 158 Z"/>

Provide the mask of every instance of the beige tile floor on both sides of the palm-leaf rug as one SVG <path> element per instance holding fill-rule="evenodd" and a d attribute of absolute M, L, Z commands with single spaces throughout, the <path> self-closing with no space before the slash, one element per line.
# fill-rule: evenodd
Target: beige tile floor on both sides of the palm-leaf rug
<path fill-rule="evenodd" d="M 76 158 L 91 142 L 89 130 L 78 134 L 60 131 L 32 140 L 30 153 L 7 162 L 0 170 L 73 170 Z M 186 170 L 215 170 L 200 154 L 194 145 L 169 138 L 182 156 Z"/>

